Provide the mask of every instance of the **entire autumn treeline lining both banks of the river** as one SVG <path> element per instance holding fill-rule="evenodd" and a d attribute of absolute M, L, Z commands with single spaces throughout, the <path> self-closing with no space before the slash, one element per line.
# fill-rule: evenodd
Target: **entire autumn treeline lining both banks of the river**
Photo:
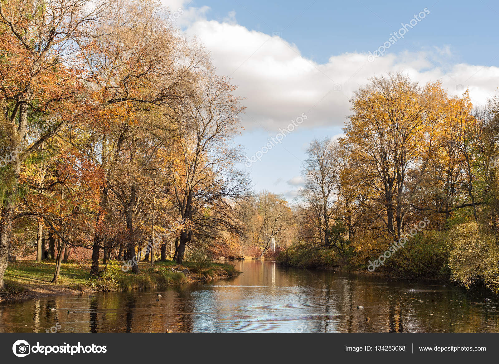
<path fill-rule="evenodd" d="M 0 50 L 0 288 L 11 254 L 53 260 L 53 282 L 82 251 L 98 276 L 173 246 L 365 268 L 425 218 L 383 269 L 499 288 L 496 100 L 371 79 L 291 203 L 250 190 L 235 86 L 156 1 L 0 0 Z"/>

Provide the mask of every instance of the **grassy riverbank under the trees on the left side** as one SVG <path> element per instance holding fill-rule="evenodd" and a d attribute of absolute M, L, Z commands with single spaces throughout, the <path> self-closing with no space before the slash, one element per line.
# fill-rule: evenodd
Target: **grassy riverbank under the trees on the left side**
<path fill-rule="evenodd" d="M 174 261 L 140 262 L 141 274 L 123 272 L 121 265 L 115 263 L 108 266 L 99 278 L 90 277 L 89 262 L 68 262 L 61 266 L 58 283 L 50 283 L 54 274 L 53 261 L 41 263 L 33 261 L 17 261 L 9 263 L 4 276 L 5 288 L 0 291 L 0 303 L 20 301 L 48 296 L 81 294 L 83 292 L 124 291 L 129 289 L 163 288 L 190 282 L 203 282 L 212 279 L 236 277 L 241 272 L 230 264 L 212 263 L 199 268 L 186 263 L 178 265 Z M 172 272 L 170 268 L 184 270 L 190 274 Z M 101 265 L 100 270 L 104 266 Z"/>

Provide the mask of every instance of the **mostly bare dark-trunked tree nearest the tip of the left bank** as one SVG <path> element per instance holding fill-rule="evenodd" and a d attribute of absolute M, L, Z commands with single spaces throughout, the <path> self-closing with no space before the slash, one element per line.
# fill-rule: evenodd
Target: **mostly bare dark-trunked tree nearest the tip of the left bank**
<path fill-rule="evenodd" d="M 245 198 L 248 185 L 247 176 L 235 168 L 241 150 L 231 145 L 243 111 L 239 98 L 232 95 L 234 86 L 207 70 L 196 90 L 175 119 L 181 150 L 171 182 L 175 206 L 185 223 L 176 256 L 179 264 L 186 244 L 206 224 L 216 221 L 220 229 L 239 230 L 234 203 Z M 207 209 L 213 214 L 205 215 Z"/>

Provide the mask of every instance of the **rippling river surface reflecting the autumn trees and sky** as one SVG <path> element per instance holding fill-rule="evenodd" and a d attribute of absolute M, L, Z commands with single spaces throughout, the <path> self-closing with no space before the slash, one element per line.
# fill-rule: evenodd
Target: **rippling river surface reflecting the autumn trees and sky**
<path fill-rule="evenodd" d="M 155 290 L 0 305 L 0 332 L 44 333 L 56 323 L 59 332 L 78 333 L 499 331 L 497 297 L 445 282 L 388 281 L 268 260 L 235 264 L 244 272 L 235 279 L 170 287 L 159 301 Z"/>

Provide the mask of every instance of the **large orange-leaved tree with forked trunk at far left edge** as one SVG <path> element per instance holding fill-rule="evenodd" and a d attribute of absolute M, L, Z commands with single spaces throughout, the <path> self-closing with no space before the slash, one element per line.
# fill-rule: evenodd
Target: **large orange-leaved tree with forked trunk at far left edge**
<path fill-rule="evenodd" d="M 89 26 L 105 17 L 104 10 L 104 1 L 0 1 L 1 153 L 6 157 L 1 171 L 0 288 L 21 166 L 63 125 L 91 108 L 81 83 L 87 70 L 75 52 L 75 39 L 86 36 Z M 37 129 L 40 118 L 55 115 L 53 127 Z"/>

